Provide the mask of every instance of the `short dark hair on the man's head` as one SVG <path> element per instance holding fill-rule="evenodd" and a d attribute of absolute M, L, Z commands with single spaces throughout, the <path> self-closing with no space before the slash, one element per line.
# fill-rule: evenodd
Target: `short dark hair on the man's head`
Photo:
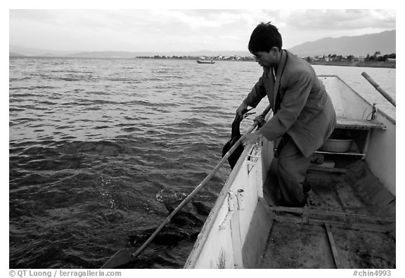
<path fill-rule="evenodd" d="M 259 51 L 269 52 L 271 48 L 276 46 L 281 50 L 283 40 L 276 26 L 271 25 L 271 22 L 260 23 L 250 35 L 248 49 L 250 53 L 255 54 Z"/>

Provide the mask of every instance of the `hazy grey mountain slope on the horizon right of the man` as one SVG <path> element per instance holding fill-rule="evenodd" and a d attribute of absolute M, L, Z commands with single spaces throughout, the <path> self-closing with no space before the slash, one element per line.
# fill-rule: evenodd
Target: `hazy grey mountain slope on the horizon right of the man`
<path fill-rule="evenodd" d="M 385 55 L 396 53 L 395 42 L 395 30 L 392 30 L 354 37 L 324 38 L 294 46 L 289 50 L 300 57 L 329 54 L 366 56 L 373 55 L 376 51 Z"/>

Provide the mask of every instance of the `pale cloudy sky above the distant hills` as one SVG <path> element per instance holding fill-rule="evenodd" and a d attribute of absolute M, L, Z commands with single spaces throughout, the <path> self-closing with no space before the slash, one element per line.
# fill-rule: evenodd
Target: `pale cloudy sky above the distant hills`
<path fill-rule="evenodd" d="M 396 29 L 395 9 L 50 6 L 11 7 L 9 44 L 55 51 L 248 51 L 250 34 L 259 22 L 278 27 L 283 48 Z"/>

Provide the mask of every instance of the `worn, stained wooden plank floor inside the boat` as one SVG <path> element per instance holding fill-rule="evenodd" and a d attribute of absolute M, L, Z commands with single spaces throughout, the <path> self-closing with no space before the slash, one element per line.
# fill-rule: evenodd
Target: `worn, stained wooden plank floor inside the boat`
<path fill-rule="evenodd" d="M 312 216 L 313 213 L 294 215 L 269 210 L 273 226 L 259 267 L 395 268 L 396 236 L 392 220 L 395 218 L 395 197 L 373 176 L 366 163 L 356 163 L 345 175 L 309 173 L 308 179 L 312 192 L 307 209 L 326 213 Z M 265 197 L 269 196 L 266 185 L 264 193 Z M 271 204 L 271 200 L 266 199 Z M 347 213 L 347 217 L 342 220 L 329 216 L 330 211 Z M 353 219 L 349 217 L 352 215 L 389 221 L 370 224 L 367 217 Z M 342 225 L 331 225 L 328 237 L 328 229 L 323 223 Z M 382 227 L 382 231 L 378 227 Z"/>

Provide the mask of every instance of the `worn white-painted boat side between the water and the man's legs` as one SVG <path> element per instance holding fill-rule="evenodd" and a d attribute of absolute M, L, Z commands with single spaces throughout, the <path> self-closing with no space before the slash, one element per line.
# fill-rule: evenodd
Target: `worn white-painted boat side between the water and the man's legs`
<path fill-rule="evenodd" d="M 195 241 L 184 265 L 185 268 L 243 267 L 241 254 L 243 242 L 248 234 L 258 196 L 263 192 L 260 150 L 261 147 L 258 145 L 245 147 Z M 248 161 L 248 154 L 251 152 L 257 155 L 255 165 L 251 165 Z M 229 213 L 229 192 L 236 193 L 238 190 L 244 190 L 245 193 L 243 204 L 240 204 L 243 210 L 237 208 L 236 201 L 230 222 L 224 223 Z M 221 225 L 224 227 L 221 228 Z"/>

